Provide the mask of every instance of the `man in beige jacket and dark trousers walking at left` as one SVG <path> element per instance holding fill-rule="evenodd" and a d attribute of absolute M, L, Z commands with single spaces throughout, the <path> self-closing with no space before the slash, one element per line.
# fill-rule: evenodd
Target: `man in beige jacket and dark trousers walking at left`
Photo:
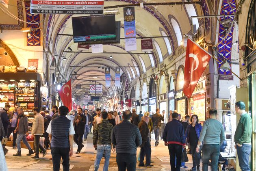
<path fill-rule="evenodd" d="M 34 145 L 35 145 L 35 156 L 32 157 L 33 159 L 39 159 L 39 148 L 43 152 L 43 157 L 46 155 L 47 151 L 39 144 L 40 137 L 44 133 L 44 119 L 43 116 L 39 114 L 39 108 L 34 107 L 34 120 L 32 125 L 31 134 L 34 136 Z"/>

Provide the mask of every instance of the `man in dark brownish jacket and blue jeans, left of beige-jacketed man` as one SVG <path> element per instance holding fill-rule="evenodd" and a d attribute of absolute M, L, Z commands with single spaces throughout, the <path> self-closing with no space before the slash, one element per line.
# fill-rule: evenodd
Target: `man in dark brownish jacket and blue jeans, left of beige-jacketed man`
<path fill-rule="evenodd" d="M 26 139 L 26 134 L 28 132 L 28 117 L 26 117 L 26 115 L 24 115 L 23 108 L 17 109 L 17 112 L 19 115 L 19 119 L 17 122 L 19 124 L 17 124 L 17 127 L 14 128 L 13 132 L 15 132 L 15 134 L 16 133 L 18 134 L 17 139 L 16 139 L 18 151 L 16 154 L 13 154 L 13 156 L 22 156 L 21 155 L 21 145 L 20 145 L 21 140 L 28 147 L 29 153 L 27 154 L 27 156 L 30 156 L 31 154 L 34 154 L 34 152 Z"/>

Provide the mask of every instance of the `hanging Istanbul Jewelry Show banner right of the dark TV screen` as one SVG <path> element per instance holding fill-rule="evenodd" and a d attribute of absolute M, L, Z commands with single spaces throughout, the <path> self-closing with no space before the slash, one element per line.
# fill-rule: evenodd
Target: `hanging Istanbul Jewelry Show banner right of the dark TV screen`
<path fill-rule="evenodd" d="M 124 38 L 126 51 L 137 50 L 134 6 L 124 8 Z"/>

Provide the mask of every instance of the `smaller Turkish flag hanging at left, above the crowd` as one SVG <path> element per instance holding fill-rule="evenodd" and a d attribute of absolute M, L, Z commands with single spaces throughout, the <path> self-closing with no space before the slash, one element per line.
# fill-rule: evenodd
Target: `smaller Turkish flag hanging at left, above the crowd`
<path fill-rule="evenodd" d="M 64 84 L 58 92 L 64 106 L 67 106 L 69 111 L 72 110 L 71 80 Z"/>

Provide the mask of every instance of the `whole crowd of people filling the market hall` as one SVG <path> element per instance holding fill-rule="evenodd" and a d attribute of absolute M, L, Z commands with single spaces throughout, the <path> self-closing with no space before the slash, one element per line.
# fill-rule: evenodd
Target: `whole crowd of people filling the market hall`
<path fill-rule="evenodd" d="M 0 137 L 6 135 L 9 138 L 13 134 L 13 149 L 17 148 L 17 154 L 13 156 L 22 156 L 21 140 L 28 148 L 27 156 L 35 154 L 33 159 L 39 159 L 39 149 L 44 157 L 50 148 L 54 171 L 59 171 L 61 158 L 63 170 L 69 171 L 69 157 L 73 155 L 74 142 L 78 145 L 76 154 L 81 153 L 83 142 L 87 141 L 90 133 L 93 133 L 96 154 L 95 171 L 98 171 L 102 157 L 105 159 L 103 171 L 108 171 L 111 150 L 117 154 L 119 171 L 135 171 L 137 160 L 138 167 L 152 167 L 152 132 L 155 136 L 155 146 L 161 143 L 160 138 L 169 149 L 171 171 L 187 167 L 182 162 L 182 154 L 187 146 L 192 155 L 191 171 L 200 171 L 201 154 L 203 171 L 207 171 L 209 165 L 212 171 L 217 171 L 220 160 L 224 161 L 223 170 L 227 165 L 227 159 L 220 155 L 225 149 L 226 137 L 222 123 L 217 120 L 215 109 L 209 110 L 209 118 L 202 126 L 197 115 L 186 115 L 182 120 L 176 110 L 170 110 L 167 116 L 165 110 L 160 114 L 158 108 L 154 115 L 149 112 L 140 112 L 137 115 L 135 109 L 132 109 L 132 112 L 126 110 L 117 113 L 97 108 L 95 112 L 89 113 L 87 109 L 82 108 L 69 112 L 66 106 L 53 106 L 50 115 L 48 110 L 40 111 L 35 107 L 33 126 L 29 130 L 28 117 L 24 115 L 23 109 L 15 105 L 14 110 L 9 112 L 9 108 L 10 105 L 6 104 L 4 109 L 0 110 Z M 242 171 L 249 171 L 252 119 L 245 112 L 244 102 L 236 102 L 235 111 L 241 116 L 234 135 L 239 165 Z M 26 136 L 29 134 L 33 137 L 34 148 L 27 141 Z M 39 143 L 41 136 L 44 137 L 45 147 Z M 2 146 L 6 154 L 7 149 L 4 144 Z M 140 152 L 137 158 L 138 147 Z"/>

